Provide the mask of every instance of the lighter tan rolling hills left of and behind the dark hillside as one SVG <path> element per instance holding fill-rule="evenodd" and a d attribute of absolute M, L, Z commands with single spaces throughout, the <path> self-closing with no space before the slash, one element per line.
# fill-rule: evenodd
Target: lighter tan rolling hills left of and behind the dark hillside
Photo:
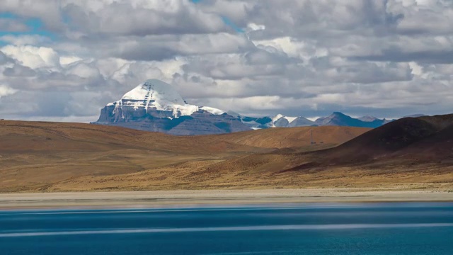
<path fill-rule="evenodd" d="M 81 123 L 0 121 L 0 191 L 96 190 L 117 188 L 197 188 L 196 171 L 209 174 L 222 164 L 285 164 L 275 149 L 309 151 L 333 147 L 368 129 L 346 127 L 275 128 L 227 135 L 176 137 L 155 132 Z M 311 133 L 322 145 L 311 146 Z M 247 155 L 258 160 L 248 162 Z M 275 159 L 275 162 L 271 162 Z M 282 163 L 279 163 L 282 162 Z M 215 169 L 212 168 L 212 169 Z M 266 169 L 266 166 L 263 166 Z M 174 171 L 173 171 L 174 170 Z M 160 173 L 160 174 L 159 174 Z M 157 176 L 156 176 L 157 174 Z M 193 176 L 188 178 L 186 174 Z M 123 176 L 144 176 L 120 183 Z M 170 176 L 163 178 L 162 176 Z M 183 176 L 178 179 L 178 176 Z M 200 176 L 205 176 L 200 174 Z M 100 179 L 96 185 L 82 180 Z M 176 181 L 172 182 L 172 179 Z M 214 180 L 209 177 L 209 180 Z M 179 181 L 177 181 L 179 180 Z M 234 181 L 231 179 L 230 181 Z M 185 183 L 184 185 L 181 184 Z M 224 182 L 229 182 L 225 179 Z M 103 183 L 99 185 L 99 183 Z M 201 182 L 203 183 L 203 182 Z M 230 183 L 234 186 L 234 183 Z M 200 184 L 201 185 L 201 184 Z M 71 187 L 71 188 L 70 188 Z"/>

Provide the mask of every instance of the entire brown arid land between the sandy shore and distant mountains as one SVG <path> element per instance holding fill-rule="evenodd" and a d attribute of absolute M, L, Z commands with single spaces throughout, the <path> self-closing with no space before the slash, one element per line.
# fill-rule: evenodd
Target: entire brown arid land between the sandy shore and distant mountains
<path fill-rule="evenodd" d="M 3 120 L 0 191 L 453 191 L 451 132 L 442 131 L 452 116 L 444 116 L 442 121 L 428 121 L 442 126 L 437 129 L 425 126 L 425 120 L 409 118 L 409 123 L 398 120 L 375 130 L 273 128 L 195 137 L 80 123 Z M 406 125 L 423 130 L 411 136 Z M 436 138 L 438 133 L 447 136 Z M 432 139 L 429 146 L 423 145 L 426 137 Z M 445 147 L 443 154 L 430 149 L 440 145 Z"/>

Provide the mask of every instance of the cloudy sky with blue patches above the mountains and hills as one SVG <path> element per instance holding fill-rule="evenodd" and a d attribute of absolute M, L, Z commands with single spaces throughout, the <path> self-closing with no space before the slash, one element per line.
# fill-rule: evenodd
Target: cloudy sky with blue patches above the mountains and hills
<path fill-rule="evenodd" d="M 2 0 L 0 118 L 96 121 L 147 79 L 315 118 L 453 113 L 451 0 Z"/>

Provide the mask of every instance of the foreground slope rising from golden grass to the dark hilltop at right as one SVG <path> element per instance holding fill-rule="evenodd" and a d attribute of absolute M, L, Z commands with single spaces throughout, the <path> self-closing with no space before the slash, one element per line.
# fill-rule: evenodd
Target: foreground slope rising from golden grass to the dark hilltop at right
<path fill-rule="evenodd" d="M 452 117 L 397 120 L 332 149 L 309 152 L 328 147 L 318 144 L 227 160 L 184 162 L 133 174 L 82 176 L 56 183 L 49 190 L 390 187 L 453 191 Z M 338 135 L 338 130 L 322 135 L 317 133 L 320 130 L 313 129 L 315 138 Z M 266 132 L 282 130 L 263 130 L 260 133 Z M 301 139 L 301 142 L 307 144 L 311 130 L 302 132 L 305 140 Z M 276 142 L 285 142 L 284 134 L 277 137 L 271 134 L 265 135 L 269 141 L 275 138 Z M 251 133 L 241 133 L 234 140 L 258 144 L 260 140 L 248 135 Z"/>

